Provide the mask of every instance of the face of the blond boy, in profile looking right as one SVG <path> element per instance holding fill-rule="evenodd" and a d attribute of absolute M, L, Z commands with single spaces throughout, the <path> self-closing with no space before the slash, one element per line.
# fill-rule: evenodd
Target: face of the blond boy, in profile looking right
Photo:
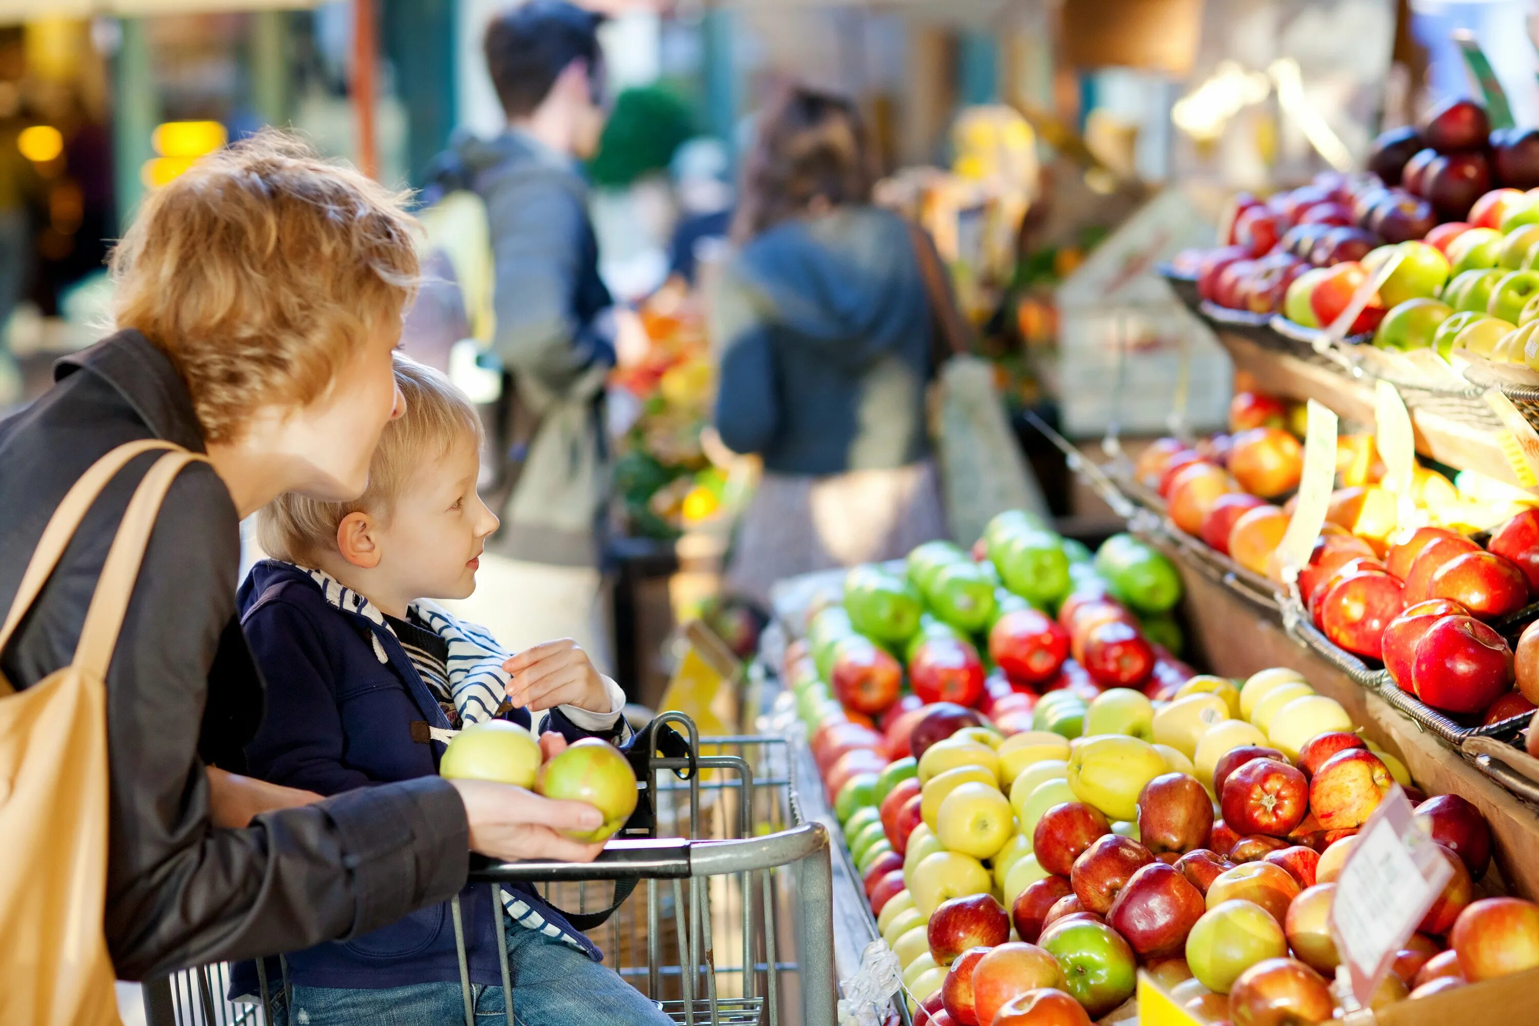
<path fill-rule="evenodd" d="M 405 601 L 465 598 L 476 591 L 476 571 L 497 517 L 476 492 L 480 458 L 474 438 L 460 440 L 443 458 L 425 460 L 380 525 L 376 574 Z"/>

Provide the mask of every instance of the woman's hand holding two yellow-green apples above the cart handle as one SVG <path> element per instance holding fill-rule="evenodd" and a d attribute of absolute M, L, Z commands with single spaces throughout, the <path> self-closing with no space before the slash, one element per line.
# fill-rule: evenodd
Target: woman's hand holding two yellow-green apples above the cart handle
<path fill-rule="evenodd" d="M 465 801 L 471 824 L 471 851 L 503 861 L 556 858 L 593 861 L 603 843 L 583 844 L 557 831 L 591 831 L 603 814 L 585 801 L 556 801 L 489 780 L 451 780 Z"/>

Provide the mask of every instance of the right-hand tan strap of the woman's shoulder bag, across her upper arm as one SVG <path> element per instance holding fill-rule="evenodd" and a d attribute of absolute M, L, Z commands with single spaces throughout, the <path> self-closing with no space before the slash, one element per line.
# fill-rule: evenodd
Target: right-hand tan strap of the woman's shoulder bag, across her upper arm
<path fill-rule="evenodd" d="M 134 581 L 139 580 L 139 566 L 145 560 L 149 534 L 160 515 L 160 505 L 177 474 L 189 463 L 199 461 L 206 463 L 208 457 L 186 449 L 168 452 L 155 460 L 134 491 L 134 498 L 129 500 L 123 521 L 117 528 L 117 537 L 112 538 L 112 548 L 108 549 L 102 577 L 97 578 L 91 606 L 86 609 L 85 626 L 80 628 L 80 643 L 75 646 L 72 665 L 89 680 L 105 678 L 112 663 L 112 649 L 117 648 L 117 635 L 128 612 L 128 600 L 134 594 Z"/>

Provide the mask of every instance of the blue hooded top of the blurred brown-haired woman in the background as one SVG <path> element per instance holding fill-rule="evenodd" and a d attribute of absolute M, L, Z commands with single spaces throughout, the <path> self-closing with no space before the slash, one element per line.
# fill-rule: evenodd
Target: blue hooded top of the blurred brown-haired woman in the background
<path fill-rule="evenodd" d="M 906 466 L 930 454 L 933 317 L 913 234 L 871 206 L 776 225 L 722 271 L 716 426 L 780 474 Z"/>

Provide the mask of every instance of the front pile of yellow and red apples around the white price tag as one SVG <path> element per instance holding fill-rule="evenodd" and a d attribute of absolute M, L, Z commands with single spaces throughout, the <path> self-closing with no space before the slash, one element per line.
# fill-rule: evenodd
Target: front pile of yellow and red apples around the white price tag
<path fill-rule="evenodd" d="M 1539 964 L 1539 909 L 1474 901 L 1491 852 L 1479 811 L 1424 798 L 1293 671 L 1199 675 L 1168 701 L 1107 689 L 1073 740 L 1007 737 L 953 706 L 906 721 L 910 754 L 836 814 L 916 1021 L 1122 1015 L 1139 966 L 1202 1021 L 1262 1006 L 1328 1021 L 1334 880 L 1396 781 L 1453 878 L 1384 1000 Z"/>

